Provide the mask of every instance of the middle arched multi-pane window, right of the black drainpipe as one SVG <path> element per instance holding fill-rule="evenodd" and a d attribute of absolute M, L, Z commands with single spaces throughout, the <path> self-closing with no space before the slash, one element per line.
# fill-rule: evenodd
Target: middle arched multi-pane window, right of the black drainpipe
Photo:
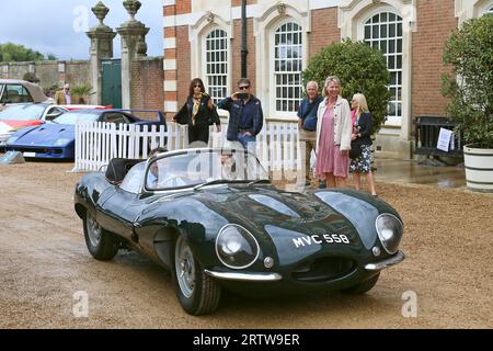
<path fill-rule="evenodd" d="M 282 24 L 274 32 L 275 111 L 298 110 L 301 93 L 302 31 L 295 22 Z"/>

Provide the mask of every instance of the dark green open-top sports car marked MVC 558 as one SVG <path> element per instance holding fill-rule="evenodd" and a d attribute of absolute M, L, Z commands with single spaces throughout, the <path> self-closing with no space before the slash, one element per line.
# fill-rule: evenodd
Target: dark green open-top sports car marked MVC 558
<path fill-rule="evenodd" d="M 244 150 L 114 159 L 77 184 L 74 208 L 95 259 L 122 248 L 148 256 L 172 272 L 192 315 L 214 312 L 223 290 L 362 294 L 404 259 L 402 219 L 387 203 L 351 190 L 282 191 Z"/>

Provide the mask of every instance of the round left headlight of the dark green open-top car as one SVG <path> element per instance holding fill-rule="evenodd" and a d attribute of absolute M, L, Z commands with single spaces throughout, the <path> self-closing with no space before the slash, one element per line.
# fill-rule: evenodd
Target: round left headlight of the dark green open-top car
<path fill-rule="evenodd" d="M 228 224 L 219 230 L 216 253 L 228 268 L 249 268 L 259 258 L 260 247 L 255 237 L 242 226 Z"/>

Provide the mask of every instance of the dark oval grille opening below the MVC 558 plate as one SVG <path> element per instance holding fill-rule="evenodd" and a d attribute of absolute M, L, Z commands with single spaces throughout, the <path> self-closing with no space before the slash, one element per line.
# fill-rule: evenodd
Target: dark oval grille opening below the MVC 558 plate
<path fill-rule="evenodd" d="M 323 257 L 300 264 L 291 274 L 300 282 L 320 283 L 347 275 L 355 267 L 355 262 L 346 258 Z"/>

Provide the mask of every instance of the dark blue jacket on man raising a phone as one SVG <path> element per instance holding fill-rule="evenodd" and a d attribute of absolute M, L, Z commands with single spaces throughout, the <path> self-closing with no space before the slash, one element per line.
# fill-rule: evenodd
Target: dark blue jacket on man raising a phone
<path fill-rule="evenodd" d="M 262 104 L 254 95 L 250 97 L 250 102 L 255 105 L 255 112 L 253 115 L 253 127 L 250 131 L 253 136 L 256 136 L 264 126 L 264 113 L 262 112 Z M 238 128 L 241 123 L 241 111 L 243 110 L 242 100 L 232 101 L 231 98 L 226 98 L 220 101 L 217 106 L 222 110 L 229 111 L 229 125 L 227 139 L 230 141 L 238 140 Z"/>

